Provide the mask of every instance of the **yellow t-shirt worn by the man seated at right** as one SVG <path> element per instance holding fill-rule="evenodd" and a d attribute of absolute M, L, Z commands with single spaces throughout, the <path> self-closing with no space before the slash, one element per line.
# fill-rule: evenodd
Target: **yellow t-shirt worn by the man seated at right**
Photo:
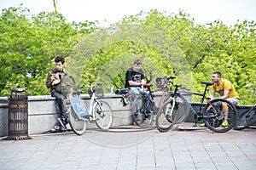
<path fill-rule="evenodd" d="M 224 96 L 224 90 L 230 90 L 229 98 L 239 99 L 233 84 L 224 78 L 220 80 L 219 85 L 213 83 L 212 90 L 215 90 L 220 96 Z"/>

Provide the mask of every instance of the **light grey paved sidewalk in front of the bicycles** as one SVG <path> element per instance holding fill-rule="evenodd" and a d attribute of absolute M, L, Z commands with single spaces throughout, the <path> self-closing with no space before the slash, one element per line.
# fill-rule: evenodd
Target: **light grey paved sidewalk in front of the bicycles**
<path fill-rule="evenodd" d="M 256 130 L 212 133 L 205 127 L 160 133 L 117 127 L 0 140 L 0 169 L 256 169 Z M 190 129 L 190 130 L 189 130 Z"/>

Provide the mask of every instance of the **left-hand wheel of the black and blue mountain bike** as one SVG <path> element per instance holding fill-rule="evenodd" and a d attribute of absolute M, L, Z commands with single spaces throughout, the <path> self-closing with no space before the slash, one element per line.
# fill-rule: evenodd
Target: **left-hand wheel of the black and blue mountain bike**
<path fill-rule="evenodd" d="M 177 116 L 178 108 L 176 104 L 177 103 L 175 102 L 174 106 L 172 106 L 173 100 L 170 100 L 160 107 L 155 118 L 155 125 L 161 133 L 165 133 L 172 128 L 175 117 Z"/>

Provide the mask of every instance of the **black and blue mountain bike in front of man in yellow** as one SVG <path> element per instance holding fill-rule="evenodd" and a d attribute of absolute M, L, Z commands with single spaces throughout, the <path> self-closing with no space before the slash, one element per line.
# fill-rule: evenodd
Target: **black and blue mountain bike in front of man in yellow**
<path fill-rule="evenodd" d="M 172 98 L 169 99 L 166 103 L 164 103 L 160 110 L 157 113 L 155 122 L 157 129 L 164 133 L 170 130 L 174 124 L 178 124 L 183 122 L 184 119 L 188 116 L 189 111 L 195 117 L 195 125 L 197 126 L 197 122 L 203 120 L 206 127 L 208 127 L 212 132 L 216 133 L 224 133 L 229 131 L 236 124 L 236 116 L 237 111 L 235 105 L 230 103 L 230 101 L 226 99 L 212 99 L 206 97 L 207 88 L 212 86 L 213 82 L 201 82 L 205 84 L 204 93 L 196 93 L 189 92 L 188 88 L 183 87 L 182 85 L 177 85 L 174 82 L 171 82 L 172 86 L 175 87 L 175 90 L 172 94 Z M 184 98 L 183 93 L 195 94 L 201 96 L 201 102 L 199 106 L 199 111 L 195 111 L 193 107 L 189 104 L 188 100 Z M 177 102 L 177 98 L 183 101 L 184 105 L 189 107 L 189 111 L 184 114 L 180 114 L 178 111 L 179 104 Z M 207 99 L 207 103 L 204 104 L 204 100 Z M 224 112 L 228 111 L 228 123 L 229 126 L 222 127 L 221 123 L 224 121 Z"/>

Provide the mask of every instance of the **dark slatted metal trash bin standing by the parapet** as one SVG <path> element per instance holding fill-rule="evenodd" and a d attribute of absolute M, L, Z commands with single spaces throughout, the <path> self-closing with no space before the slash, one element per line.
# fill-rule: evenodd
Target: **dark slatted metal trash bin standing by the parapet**
<path fill-rule="evenodd" d="M 31 139 L 28 136 L 28 111 L 25 88 L 12 88 L 8 98 L 9 136 L 8 140 Z"/>

